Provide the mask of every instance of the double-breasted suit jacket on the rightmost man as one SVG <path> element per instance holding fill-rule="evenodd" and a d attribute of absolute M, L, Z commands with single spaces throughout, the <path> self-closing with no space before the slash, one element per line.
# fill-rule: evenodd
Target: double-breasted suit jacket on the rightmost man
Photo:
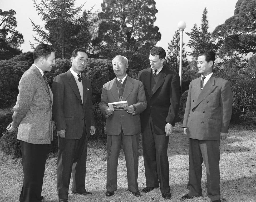
<path fill-rule="evenodd" d="M 219 140 L 220 132 L 228 133 L 232 113 L 230 83 L 211 75 L 201 90 L 201 77 L 190 82 L 183 127 L 189 138 Z"/>

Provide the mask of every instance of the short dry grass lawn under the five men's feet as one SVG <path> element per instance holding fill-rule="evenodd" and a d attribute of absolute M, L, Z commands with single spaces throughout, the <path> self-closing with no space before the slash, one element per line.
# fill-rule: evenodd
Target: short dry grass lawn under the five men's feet
<path fill-rule="evenodd" d="M 141 148 L 140 148 L 141 153 Z M 229 137 L 220 144 L 220 192 L 221 201 L 256 201 L 256 126 L 231 125 Z M 183 201 L 181 196 L 188 193 L 186 185 L 189 177 L 188 138 L 183 134 L 181 123 L 177 123 L 170 136 L 169 148 L 171 201 Z M 86 190 L 93 196 L 70 194 L 68 201 L 167 201 L 161 197 L 159 189 L 142 193 L 135 198 L 128 190 L 124 153 L 121 150 L 118 164 L 118 188 L 114 196 L 106 197 L 106 141 L 89 140 L 86 166 Z M 46 161 L 42 195 L 44 202 L 57 202 L 56 154 Z M 22 188 L 21 159 L 11 159 L 0 151 L 0 201 L 18 201 Z M 72 179 L 71 179 L 72 181 Z M 146 186 L 142 153 L 139 156 L 139 190 Z M 203 197 L 186 200 L 188 202 L 210 201 L 206 194 L 206 173 L 203 165 Z M 71 186 L 70 186 L 71 190 Z"/>

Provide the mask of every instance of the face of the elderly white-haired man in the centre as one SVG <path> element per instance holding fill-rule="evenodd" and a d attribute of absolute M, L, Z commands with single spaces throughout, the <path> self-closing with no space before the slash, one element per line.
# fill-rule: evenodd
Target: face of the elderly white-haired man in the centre
<path fill-rule="evenodd" d="M 126 63 L 126 61 L 123 59 L 123 57 L 115 57 L 112 60 L 112 66 L 113 66 L 113 70 L 115 75 L 119 78 L 122 79 L 125 77 L 126 75 L 126 70 L 128 68 L 128 64 Z"/>

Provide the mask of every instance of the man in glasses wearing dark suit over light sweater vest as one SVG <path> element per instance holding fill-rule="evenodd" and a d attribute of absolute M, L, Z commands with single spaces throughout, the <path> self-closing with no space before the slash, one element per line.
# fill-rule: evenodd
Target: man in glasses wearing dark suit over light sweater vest
<path fill-rule="evenodd" d="M 72 193 L 92 195 L 85 189 L 87 143 L 95 133 L 92 88 L 81 72 L 88 62 L 86 51 L 77 48 L 71 68 L 53 79 L 52 114 L 58 135 L 57 190 L 60 202 L 67 202 L 72 173 Z"/>

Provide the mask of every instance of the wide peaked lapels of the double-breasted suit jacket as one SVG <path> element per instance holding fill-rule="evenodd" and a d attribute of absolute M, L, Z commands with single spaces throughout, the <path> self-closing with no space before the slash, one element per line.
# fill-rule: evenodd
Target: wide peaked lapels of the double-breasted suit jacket
<path fill-rule="evenodd" d="M 195 108 L 198 104 L 200 104 L 216 88 L 216 85 L 214 85 L 214 81 L 215 81 L 215 75 L 211 75 L 210 79 L 204 85 L 204 88 L 199 93 L 198 98 L 197 98 L 194 106 L 192 107 L 192 109 Z M 197 82 L 199 89 L 201 89 L 200 82 L 201 82 L 201 77 L 199 78 L 199 82 Z"/>

